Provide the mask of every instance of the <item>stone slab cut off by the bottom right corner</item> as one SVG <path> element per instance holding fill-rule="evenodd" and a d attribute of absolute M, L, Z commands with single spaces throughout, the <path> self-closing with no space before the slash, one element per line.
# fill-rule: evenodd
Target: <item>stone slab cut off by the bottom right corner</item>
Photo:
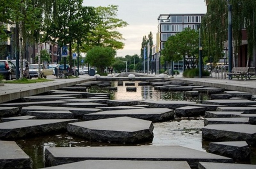
<path fill-rule="evenodd" d="M 198 169 L 255 169 L 255 165 L 251 164 L 235 164 L 235 163 L 208 163 L 199 162 Z"/>

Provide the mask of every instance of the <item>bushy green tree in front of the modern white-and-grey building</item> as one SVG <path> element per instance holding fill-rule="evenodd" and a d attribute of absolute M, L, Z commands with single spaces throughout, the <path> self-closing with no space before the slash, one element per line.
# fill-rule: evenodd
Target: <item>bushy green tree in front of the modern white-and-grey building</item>
<path fill-rule="evenodd" d="M 171 36 L 164 44 L 162 52 L 165 61 L 178 61 L 186 57 L 186 65 L 195 68 L 198 63 L 199 33 L 196 30 L 186 28 L 184 31 Z"/>

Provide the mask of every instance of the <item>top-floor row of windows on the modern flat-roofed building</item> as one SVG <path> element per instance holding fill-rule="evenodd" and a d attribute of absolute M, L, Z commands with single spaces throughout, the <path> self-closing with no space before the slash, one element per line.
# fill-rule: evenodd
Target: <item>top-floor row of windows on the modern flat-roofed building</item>
<path fill-rule="evenodd" d="M 168 19 L 161 19 L 161 23 L 201 23 L 203 16 L 170 16 Z"/>

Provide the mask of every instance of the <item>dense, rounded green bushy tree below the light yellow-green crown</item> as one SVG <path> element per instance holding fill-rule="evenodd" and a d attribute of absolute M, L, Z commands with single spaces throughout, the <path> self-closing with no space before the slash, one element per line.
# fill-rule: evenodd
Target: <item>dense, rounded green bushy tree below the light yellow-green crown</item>
<path fill-rule="evenodd" d="M 111 47 L 95 46 L 87 52 L 85 61 L 98 68 L 100 73 L 105 67 L 111 66 L 115 60 L 116 51 Z"/>

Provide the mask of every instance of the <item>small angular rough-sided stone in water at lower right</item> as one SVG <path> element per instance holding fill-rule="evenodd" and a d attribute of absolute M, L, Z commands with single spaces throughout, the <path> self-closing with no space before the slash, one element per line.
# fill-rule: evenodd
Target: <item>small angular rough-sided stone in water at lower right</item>
<path fill-rule="evenodd" d="M 248 160 L 251 149 L 245 141 L 215 142 L 209 144 L 208 152 L 233 159 Z"/>

